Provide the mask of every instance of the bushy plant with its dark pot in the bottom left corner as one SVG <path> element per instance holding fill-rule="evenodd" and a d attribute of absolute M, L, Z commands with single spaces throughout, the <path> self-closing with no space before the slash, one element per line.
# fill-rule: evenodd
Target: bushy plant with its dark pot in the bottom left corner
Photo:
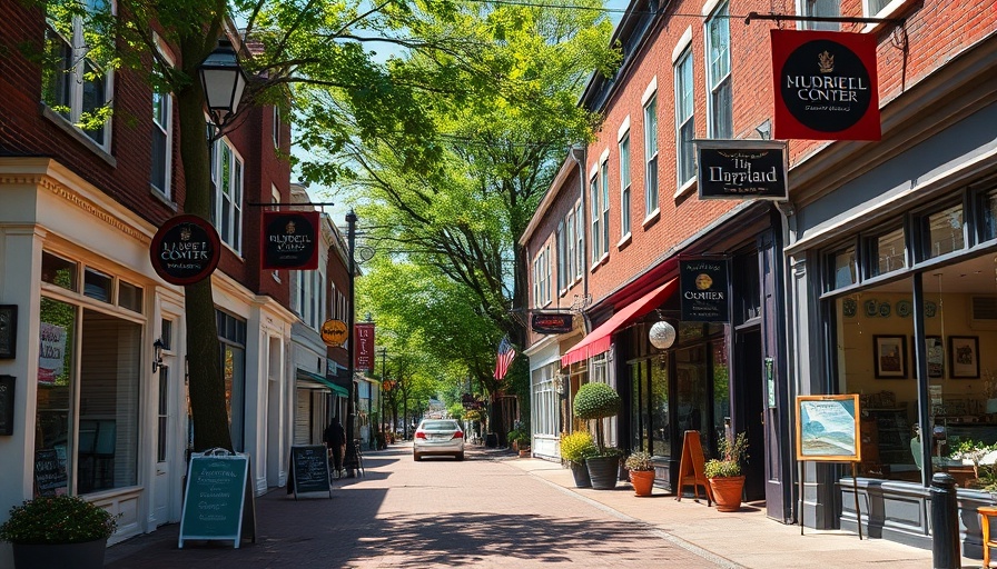
<path fill-rule="evenodd" d="M 107 540 L 118 529 L 110 512 L 76 496 L 41 496 L 10 509 L 0 540 L 13 546 L 17 569 L 103 567 Z"/>

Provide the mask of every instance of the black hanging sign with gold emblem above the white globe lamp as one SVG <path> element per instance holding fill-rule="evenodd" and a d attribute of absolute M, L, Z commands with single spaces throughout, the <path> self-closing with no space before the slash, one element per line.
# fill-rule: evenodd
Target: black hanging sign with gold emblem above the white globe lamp
<path fill-rule="evenodd" d="M 682 320 L 728 321 L 727 259 L 700 258 L 679 261 Z"/>

